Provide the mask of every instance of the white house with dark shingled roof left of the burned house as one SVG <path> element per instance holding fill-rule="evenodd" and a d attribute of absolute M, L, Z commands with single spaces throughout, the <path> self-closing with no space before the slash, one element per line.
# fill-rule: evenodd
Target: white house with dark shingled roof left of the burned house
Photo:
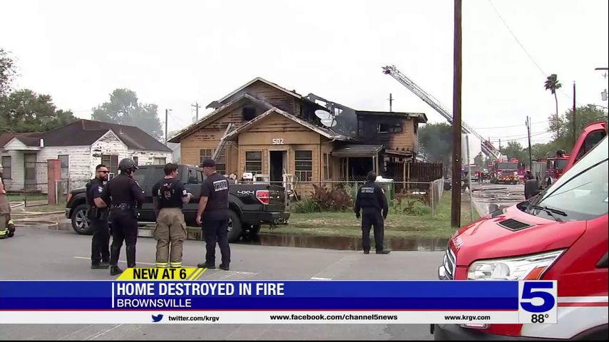
<path fill-rule="evenodd" d="M 138 165 L 164 165 L 172 150 L 137 127 L 76 120 L 44 133 L 0 135 L 4 182 L 10 191 L 26 184 L 44 184 L 49 159 L 61 160 L 61 178 L 71 182 L 90 180 L 98 164 L 116 175 L 118 162 L 133 158 Z"/>

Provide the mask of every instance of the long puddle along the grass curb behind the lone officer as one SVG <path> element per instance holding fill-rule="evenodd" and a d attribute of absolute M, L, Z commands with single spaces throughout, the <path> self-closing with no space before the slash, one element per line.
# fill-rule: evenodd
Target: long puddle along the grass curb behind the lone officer
<path fill-rule="evenodd" d="M 374 240 L 371 234 L 371 244 Z M 444 251 L 449 239 L 385 239 L 386 249 L 392 251 Z M 312 237 L 290 234 L 259 234 L 258 237 L 241 239 L 240 244 L 257 244 L 261 246 L 307 247 L 322 249 L 339 249 L 350 251 L 362 250 L 361 237 Z"/>

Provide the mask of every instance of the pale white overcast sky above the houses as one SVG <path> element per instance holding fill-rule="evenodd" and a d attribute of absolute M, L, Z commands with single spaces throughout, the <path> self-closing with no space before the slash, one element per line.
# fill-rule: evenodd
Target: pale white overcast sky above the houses
<path fill-rule="evenodd" d="M 594 69 L 608 66 L 609 1 L 463 2 L 463 118 L 483 137 L 525 145 L 528 115 L 533 143 L 548 141 L 551 73 L 563 84 L 559 112 L 573 105 L 574 81 L 579 105 L 607 106 L 609 78 Z M 389 110 L 391 93 L 394 111 L 444 122 L 382 73 L 387 64 L 452 108 L 451 0 L 0 0 L 0 11 L 15 86 L 48 93 L 79 118 L 129 88 L 158 105 L 163 126 L 172 109 L 169 131 L 178 130 L 192 123 L 191 104 L 201 117 L 260 76 L 358 110 Z"/>

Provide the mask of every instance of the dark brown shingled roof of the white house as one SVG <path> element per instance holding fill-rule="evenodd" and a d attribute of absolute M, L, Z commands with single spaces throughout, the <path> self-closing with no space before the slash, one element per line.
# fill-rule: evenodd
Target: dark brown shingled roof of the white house
<path fill-rule="evenodd" d="M 170 148 L 145 133 L 140 128 L 116 123 L 102 123 L 100 121 L 79 119 L 49 130 L 44 133 L 24 133 L 24 136 L 12 136 L 12 138 L 23 142 L 26 146 L 39 146 L 40 139 L 44 139 L 44 146 L 84 146 L 91 145 L 112 130 L 128 148 L 133 150 L 152 150 L 160 152 L 171 152 Z M 2 135 L 4 141 L 4 135 Z M 4 142 L 3 145 L 6 145 Z"/>

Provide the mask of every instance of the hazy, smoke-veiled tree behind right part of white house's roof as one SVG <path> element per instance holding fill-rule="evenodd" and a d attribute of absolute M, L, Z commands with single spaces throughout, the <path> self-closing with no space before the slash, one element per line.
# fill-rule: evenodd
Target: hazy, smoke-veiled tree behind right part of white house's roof
<path fill-rule="evenodd" d="M 91 118 L 105 123 L 137 126 L 156 140 L 163 138 L 158 106 L 153 103 L 138 103 L 138 95 L 133 90 L 115 89 L 110 94 L 110 102 L 93 108 Z"/>

